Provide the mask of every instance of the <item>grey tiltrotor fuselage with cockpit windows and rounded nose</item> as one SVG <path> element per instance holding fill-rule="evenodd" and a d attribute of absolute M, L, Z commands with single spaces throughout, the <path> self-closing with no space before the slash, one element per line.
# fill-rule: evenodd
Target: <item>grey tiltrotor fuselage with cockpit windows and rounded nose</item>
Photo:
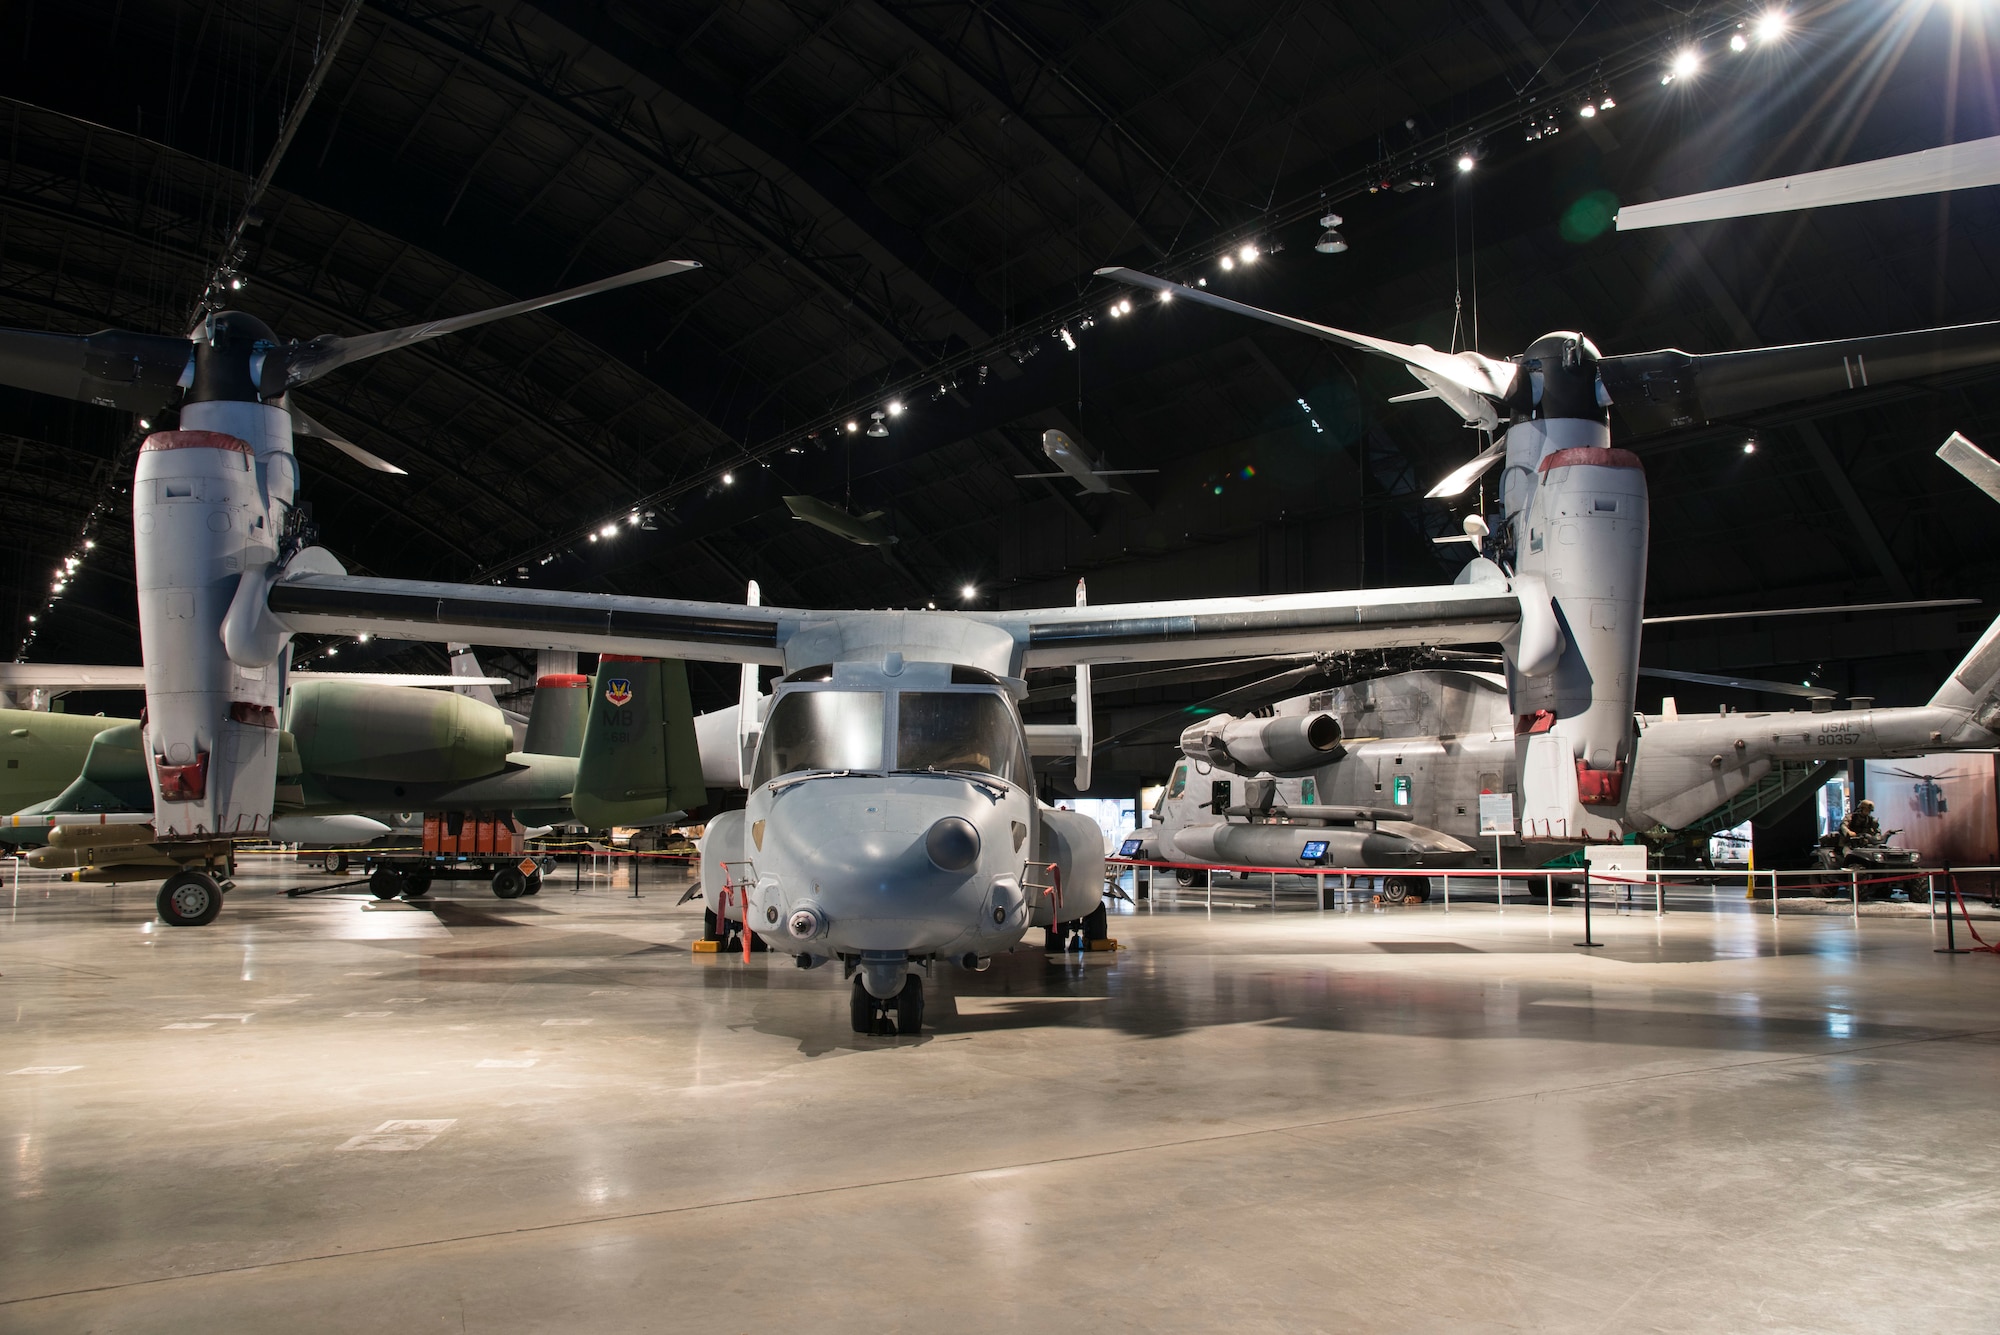
<path fill-rule="evenodd" d="M 984 957 L 1096 909 L 1100 835 L 1036 801 L 1012 685 L 900 658 L 786 675 L 746 807 L 702 841 L 708 907 L 806 963 L 862 967 L 876 995 L 906 961 Z"/>

